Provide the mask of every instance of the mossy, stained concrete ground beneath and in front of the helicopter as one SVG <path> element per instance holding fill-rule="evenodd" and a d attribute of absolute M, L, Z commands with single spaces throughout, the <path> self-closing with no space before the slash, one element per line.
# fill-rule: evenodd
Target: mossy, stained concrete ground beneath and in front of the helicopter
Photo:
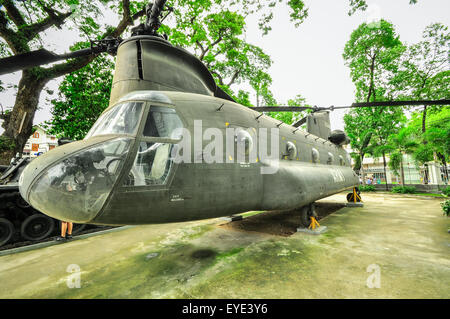
<path fill-rule="evenodd" d="M 255 228 L 264 213 L 240 224 L 136 226 L 2 256 L 0 298 L 450 298 L 442 199 L 363 200 L 323 218 L 322 235 Z"/>

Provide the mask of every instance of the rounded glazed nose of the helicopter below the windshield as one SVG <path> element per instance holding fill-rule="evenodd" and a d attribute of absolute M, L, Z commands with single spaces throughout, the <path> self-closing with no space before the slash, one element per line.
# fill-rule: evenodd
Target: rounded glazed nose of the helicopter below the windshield
<path fill-rule="evenodd" d="M 96 144 L 46 167 L 39 164 L 47 161 L 38 157 L 23 171 L 20 192 L 34 208 L 50 217 L 88 223 L 111 193 L 130 140 L 118 138 Z M 44 168 L 36 171 L 36 167 Z M 36 176 L 34 180 L 24 183 L 31 175 Z"/>

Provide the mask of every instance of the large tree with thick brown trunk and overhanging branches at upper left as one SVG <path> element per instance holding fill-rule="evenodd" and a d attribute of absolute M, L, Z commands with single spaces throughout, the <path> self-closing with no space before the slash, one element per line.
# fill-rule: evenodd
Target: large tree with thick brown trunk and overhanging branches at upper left
<path fill-rule="evenodd" d="M 63 26 L 76 28 L 80 34 L 91 39 L 117 37 L 144 15 L 143 3 L 130 0 L 119 3 L 108 0 L 0 0 L 0 4 L 0 42 L 6 43 L 13 55 L 44 47 L 40 40 L 46 31 L 52 29 Z M 115 27 L 101 26 L 96 22 L 101 13 L 99 8 L 103 4 L 109 4 L 121 16 Z M 2 124 L 5 131 L 0 145 L 12 147 L 0 149 L 0 162 L 7 163 L 13 154 L 22 152 L 32 132 L 34 114 L 44 86 L 54 78 L 84 67 L 96 57 L 96 54 L 92 54 L 50 67 L 34 67 L 22 71 L 14 106 L 8 117 L 3 117 Z"/>

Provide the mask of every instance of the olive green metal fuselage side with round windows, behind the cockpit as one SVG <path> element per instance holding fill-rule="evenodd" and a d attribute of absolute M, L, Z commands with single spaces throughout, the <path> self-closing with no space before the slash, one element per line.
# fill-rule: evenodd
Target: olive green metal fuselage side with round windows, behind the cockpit
<path fill-rule="evenodd" d="M 286 124 L 278 127 L 279 121 L 259 116 L 258 112 L 230 101 L 190 93 L 163 93 L 173 101 L 190 132 L 194 131 L 194 120 L 202 120 L 203 130 L 218 128 L 223 132 L 223 145 L 226 145 L 227 127 L 279 128 L 278 170 L 274 174 L 261 174 L 261 166 L 265 165 L 261 161 L 243 164 L 233 159 L 233 163 L 226 163 L 227 158 L 223 163 L 194 163 L 199 154 L 195 153 L 192 134 L 191 163 L 174 164 L 166 185 L 125 187 L 117 186 L 123 184 L 119 181 L 106 206 L 92 222 L 165 223 L 249 210 L 288 209 L 358 183 L 342 147 Z M 270 139 L 268 142 L 270 144 Z M 294 159 L 285 156 L 287 142 L 297 146 L 298 154 Z M 203 147 L 207 143 L 203 141 Z M 313 163 L 313 148 L 319 152 L 317 163 Z M 334 160 L 327 164 L 329 153 Z M 132 160 L 124 170 L 129 170 L 131 165 Z"/>

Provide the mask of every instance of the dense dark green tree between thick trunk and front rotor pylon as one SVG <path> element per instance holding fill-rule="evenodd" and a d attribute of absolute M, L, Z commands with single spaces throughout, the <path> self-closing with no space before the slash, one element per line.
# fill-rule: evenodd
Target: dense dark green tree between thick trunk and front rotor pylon
<path fill-rule="evenodd" d="M 52 119 L 43 125 L 49 133 L 72 140 L 84 138 L 108 107 L 113 68 L 111 58 L 103 55 L 64 77 L 58 98 L 51 101 Z"/>

